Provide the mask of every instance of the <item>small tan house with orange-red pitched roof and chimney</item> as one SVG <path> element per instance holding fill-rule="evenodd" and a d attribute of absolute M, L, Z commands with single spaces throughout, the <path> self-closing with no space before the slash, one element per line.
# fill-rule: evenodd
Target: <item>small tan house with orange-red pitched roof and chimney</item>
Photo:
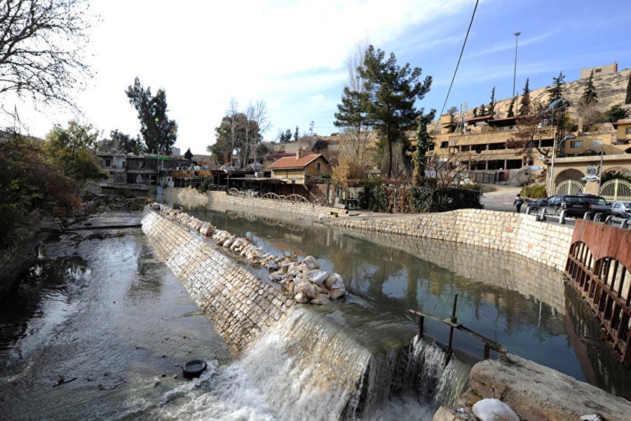
<path fill-rule="evenodd" d="M 323 154 L 304 154 L 302 149 L 295 156 L 285 156 L 271 163 L 271 178 L 306 185 L 309 180 L 317 180 L 323 173 L 331 173 L 329 161 Z"/>

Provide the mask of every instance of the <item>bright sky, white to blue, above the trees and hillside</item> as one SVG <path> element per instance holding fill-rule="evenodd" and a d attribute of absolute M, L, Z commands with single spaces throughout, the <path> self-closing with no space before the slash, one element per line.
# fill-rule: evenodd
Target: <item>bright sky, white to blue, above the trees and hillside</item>
<path fill-rule="evenodd" d="M 168 117 L 178 124 L 175 146 L 205 154 L 231 99 L 241 110 L 264 101 L 264 140 L 295 128 L 330 135 L 348 80 L 346 59 L 367 40 L 398 65 L 432 76 L 417 107 L 441 112 L 475 0 L 91 0 L 88 65 L 95 74 L 67 107 L 16 101 L 22 132 L 44 137 L 76 119 L 107 138 L 135 136 L 140 122 L 125 89 L 140 78 L 151 93 L 165 90 Z M 445 110 L 468 108 L 548 86 L 559 72 L 578 79 L 585 67 L 631 66 L 628 0 L 480 0 Z M 515 36 L 515 32 L 521 32 Z M 517 65 L 515 44 L 517 41 Z M 13 109 L 3 98 L 5 109 Z M 0 116 L 1 118 L 1 116 Z M 5 116 L 0 121 L 10 126 Z"/>

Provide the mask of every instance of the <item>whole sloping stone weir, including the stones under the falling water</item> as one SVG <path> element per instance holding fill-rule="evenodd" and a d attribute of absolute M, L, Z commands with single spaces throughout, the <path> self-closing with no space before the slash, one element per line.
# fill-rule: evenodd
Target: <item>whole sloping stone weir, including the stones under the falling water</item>
<path fill-rule="evenodd" d="M 342 413 L 362 413 L 360 394 L 364 392 L 358 385 L 370 370 L 372 355 L 367 349 L 317 315 L 292 306 L 289 295 L 258 279 L 189 226 L 147 207 L 142 229 L 158 258 L 182 282 L 234 354 L 242 356 L 255 344 L 264 348 L 264 343 L 257 342 L 264 333 L 280 333 L 289 344 L 287 359 L 292 364 L 318 367 L 317 375 L 308 380 L 308 389 L 313 396 L 328 391 L 337 406 L 327 410 L 340 417 L 344 417 Z M 334 344 L 349 351 L 342 352 Z M 336 396 L 331 396 L 332 391 Z M 278 403 L 281 398 L 274 399 Z M 292 396 L 287 406 L 307 398 Z"/>

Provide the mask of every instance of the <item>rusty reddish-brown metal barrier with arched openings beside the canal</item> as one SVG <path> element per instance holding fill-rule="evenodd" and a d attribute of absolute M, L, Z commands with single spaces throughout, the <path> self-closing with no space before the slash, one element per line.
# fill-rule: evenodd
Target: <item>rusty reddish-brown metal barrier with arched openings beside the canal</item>
<path fill-rule="evenodd" d="M 574 227 L 565 274 L 631 366 L 631 231 L 588 220 Z"/>

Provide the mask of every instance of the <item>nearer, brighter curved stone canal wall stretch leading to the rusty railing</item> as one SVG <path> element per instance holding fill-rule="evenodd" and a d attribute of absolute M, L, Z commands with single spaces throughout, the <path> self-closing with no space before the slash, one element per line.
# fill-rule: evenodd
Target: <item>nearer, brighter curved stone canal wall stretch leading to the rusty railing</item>
<path fill-rule="evenodd" d="M 327 224 L 504 250 L 559 270 L 565 268 L 573 232 L 565 225 L 538 222 L 536 215 L 483 209 L 344 218 L 328 220 Z"/>

